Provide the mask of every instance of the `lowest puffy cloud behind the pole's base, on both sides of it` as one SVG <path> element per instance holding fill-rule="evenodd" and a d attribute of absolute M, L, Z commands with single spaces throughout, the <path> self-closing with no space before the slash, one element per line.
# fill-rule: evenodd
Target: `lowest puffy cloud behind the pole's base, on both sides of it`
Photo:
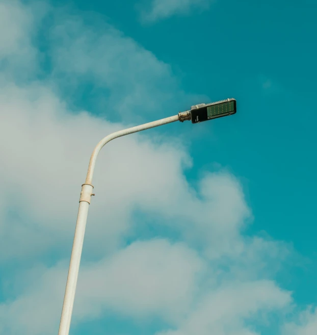
<path fill-rule="evenodd" d="M 66 265 L 32 271 L 35 281 L 27 292 L 0 305 L 0 333 L 56 333 Z M 127 316 L 177 320 L 188 311 L 203 269 L 203 261 L 186 245 L 167 240 L 135 242 L 111 257 L 82 266 L 74 322 L 98 317 L 107 309 Z"/>

